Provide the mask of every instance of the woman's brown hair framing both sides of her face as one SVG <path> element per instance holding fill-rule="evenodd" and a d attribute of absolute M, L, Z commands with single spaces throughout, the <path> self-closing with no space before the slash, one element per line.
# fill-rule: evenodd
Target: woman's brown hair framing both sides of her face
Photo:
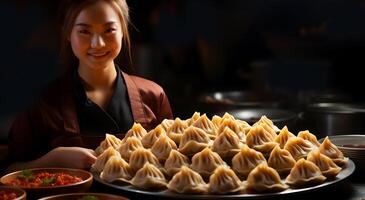
<path fill-rule="evenodd" d="M 132 71 L 131 42 L 128 27 L 130 25 L 129 7 L 126 0 L 63 0 L 59 6 L 58 22 L 60 27 L 60 63 L 64 72 L 73 71 L 79 63 L 74 55 L 69 37 L 74 26 L 76 17 L 83 8 L 97 1 L 110 2 L 118 11 L 122 27 L 122 49 L 115 62 L 127 72 Z"/>

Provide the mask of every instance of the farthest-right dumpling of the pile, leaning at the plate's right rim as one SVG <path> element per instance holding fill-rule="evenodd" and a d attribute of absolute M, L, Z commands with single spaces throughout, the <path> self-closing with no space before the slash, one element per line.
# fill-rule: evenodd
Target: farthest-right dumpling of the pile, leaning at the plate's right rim
<path fill-rule="evenodd" d="M 348 158 L 343 156 L 343 153 L 337 148 L 336 145 L 328 139 L 328 136 L 323 140 L 322 144 L 319 146 L 319 151 L 330 157 L 337 165 L 343 166 L 347 164 Z"/>

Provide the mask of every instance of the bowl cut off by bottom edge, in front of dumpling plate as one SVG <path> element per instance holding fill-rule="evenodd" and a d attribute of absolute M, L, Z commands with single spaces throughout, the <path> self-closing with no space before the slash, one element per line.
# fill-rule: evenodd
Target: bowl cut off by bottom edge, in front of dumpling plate
<path fill-rule="evenodd" d="M 104 193 L 70 193 L 44 197 L 39 200 L 128 200 L 128 198 Z"/>

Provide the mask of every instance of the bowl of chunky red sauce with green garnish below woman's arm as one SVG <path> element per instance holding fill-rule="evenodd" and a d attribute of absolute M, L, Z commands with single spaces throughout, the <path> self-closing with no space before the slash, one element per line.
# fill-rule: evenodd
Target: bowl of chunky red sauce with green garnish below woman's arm
<path fill-rule="evenodd" d="M 24 175 L 26 175 L 25 173 L 34 174 L 35 177 L 38 177 L 39 173 L 49 173 L 49 174 L 63 173 L 66 175 L 71 175 L 72 177 L 81 178 L 81 180 L 65 185 L 54 185 L 52 183 L 53 185 L 52 186 L 51 184 L 48 185 L 43 184 L 45 183 L 44 181 L 47 181 L 47 183 L 50 182 L 52 178 L 44 178 L 41 179 L 42 185 L 40 186 L 17 185 L 19 182 L 18 180 L 22 180 L 23 182 L 27 183 L 26 181 L 24 181 L 24 179 L 26 179 L 24 178 Z M 44 196 L 63 194 L 63 193 L 86 192 L 91 187 L 91 184 L 93 182 L 93 175 L 90 172 L 81 169 L 36 168 L 36 169 L 27 169 L 6 174 L 3 177 L 1 177 L 0 181 L 4 185 L 20 187 L 21 189 L 27 192 L 27 196 L 30 199 L 35 199 Z"/>

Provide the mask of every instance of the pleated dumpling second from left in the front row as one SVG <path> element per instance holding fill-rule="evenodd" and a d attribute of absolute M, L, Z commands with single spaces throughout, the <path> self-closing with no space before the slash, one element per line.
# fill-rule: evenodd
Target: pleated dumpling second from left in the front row
<path fill-rule="evenodd" d="M 146 162 L 139 169 L 130 181 L 133 186 L 142 189 L 163 189 L 166 188 L 167 181 L 163 173 L 153 164 Z"/>

